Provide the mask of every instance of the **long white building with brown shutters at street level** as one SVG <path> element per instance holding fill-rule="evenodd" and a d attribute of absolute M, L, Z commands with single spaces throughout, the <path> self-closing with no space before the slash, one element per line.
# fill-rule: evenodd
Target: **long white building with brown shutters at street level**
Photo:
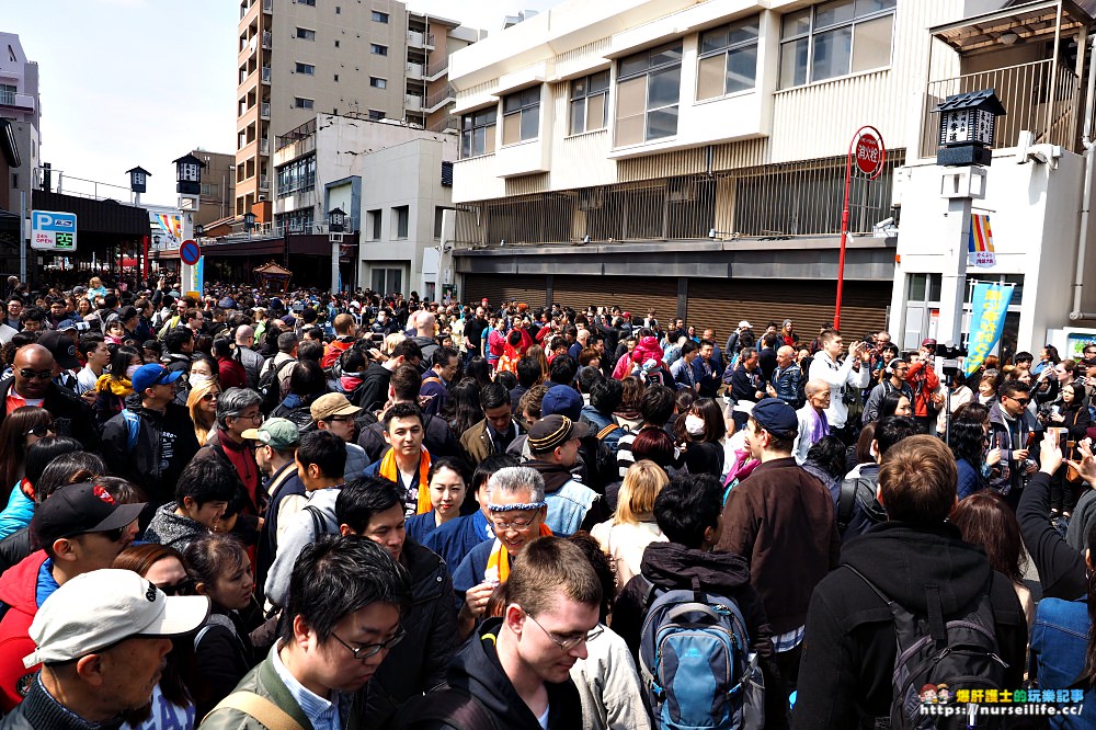
<path fill-rule="evenodd" d="M 995 14 L 1003 24 L 974 30 Z M 1020 19 L 1012 36 L 1009 18 Z M 1084 48 L 1091 24 L 1068 0 L 572 0 L 526 19 L 450 62 L 461 118 L 458 295 L 653 306 L 719 337 L 740 319 L 790 317 L 817 331 L 833 319 L 846 153 L 870 124 L 887 158 L 878 180 L 852 182 L 842 327 L 926 335 L 928 259 L 918 255 L 944 247 L 931 110 L 948 93 L 994 85 L 978 72 L 1036 64 L 1028 70 L 1041 82 L 1006 93 L 1000 79 L 1015 115 L 1005 119 L 1051 114 L 1061 159 L 1077 163 L 1063 162 L 1073 176 L 1055 185 L 1080 190 L 1081 94 L 1060 103 L 1072 122 L 1047 102 L 1051 80 L 1066 89 L 1071 78 L 1053 68 L 1068 67 L 1073 82 L 1085 72 L 1083 53 L 1063 58 L 1070 44 Z M 1050 141 L 1048 124 L 1037 141 Z M 998 137 L 994 156 L 1016 144 L 1015 133 Z M 996 174 L 994 164 L 991 186 Z M 1018 182 L 1006 189 L 1003 205 L 1018 216 L 1046 205 Z M 888 218 L 898 227 L 881 225 Z M 1076 248 L 1071 219 L 1073 233 L 1039 230 L 1053 233 L 1055 251 Z M 1031 258 L 1008 265 L 1029 280 L 1039 271 Z M 924 317 L 913 321 L 916 295 Z M 1047 324 L 1032 316 L 1015 333 L 1023 343 Z"/>

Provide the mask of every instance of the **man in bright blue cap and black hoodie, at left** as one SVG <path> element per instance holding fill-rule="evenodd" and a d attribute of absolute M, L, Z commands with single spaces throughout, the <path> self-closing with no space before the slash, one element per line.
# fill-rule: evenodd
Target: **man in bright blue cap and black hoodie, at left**
<path fill-rule="evenodd" d="M 183 467 L 198 452 L 194 423 L 175 400 L 182 375 L 162 365 L 141 365 L 130 381 L 140 406 L 130 404 L 103 425 L 103 458 L 112 475 L 134 482 L 159 507 L 175 495 Z"/>

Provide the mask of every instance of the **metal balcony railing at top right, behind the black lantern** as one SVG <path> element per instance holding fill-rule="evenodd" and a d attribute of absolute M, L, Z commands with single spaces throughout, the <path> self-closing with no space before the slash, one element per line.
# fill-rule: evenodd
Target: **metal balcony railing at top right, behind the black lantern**
<path fill-rule="evenodd" d="M 932 110 L 952 94 L 993 89 L 1007 114 L 998 116 L 994 148 L 1015 147 L 1021 130 L 1037 145 L 1060 145 L 1076 151 L 1081 82 L 1071 69 L 1053 60 L 1032 61 L 952 79 L 931 81 L 921 129 L 921 157 L 936 157 L 939 114 Z"/>

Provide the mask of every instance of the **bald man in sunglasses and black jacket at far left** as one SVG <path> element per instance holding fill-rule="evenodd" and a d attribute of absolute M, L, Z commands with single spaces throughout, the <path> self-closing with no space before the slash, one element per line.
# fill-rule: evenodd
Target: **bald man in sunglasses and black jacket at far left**
<path fill-rule="evenodd" d="M 20 347 L 12 368 L 12 376 L 0 380 L 0 397 L 3 398 L 0 424 L 16 408 L 37 406 L 49 411 L 56 435 L 72 436 L 88 450 L 99 445 L 91 407 L 71 390 L 54 383 L 56 368 L 48 350 L 39 344 Z"/>

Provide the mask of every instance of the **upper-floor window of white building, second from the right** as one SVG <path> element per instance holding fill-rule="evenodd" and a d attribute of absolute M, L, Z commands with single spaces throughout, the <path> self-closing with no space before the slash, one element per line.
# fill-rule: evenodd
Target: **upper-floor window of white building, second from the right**
<path fill-rule="evenodd" d="M 715 99 L 754 88 L 757 76 L 758 18 L 700 34 L 697 99 Z"/>

